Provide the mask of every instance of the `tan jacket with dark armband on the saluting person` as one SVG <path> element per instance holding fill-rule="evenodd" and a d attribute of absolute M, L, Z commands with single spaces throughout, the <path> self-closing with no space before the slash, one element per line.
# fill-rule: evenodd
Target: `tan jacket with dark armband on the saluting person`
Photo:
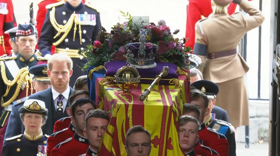
<path fill-rule="evenodd" d="M 194 51 L 205 64 L 202 73 L 206 80 L 223 83 L 244 76 L 249 70 L 239 54 L 206 60 L 207 53 L 236 49 L 242 37 L 264 21 L 261 11 L 253 8 L 247 0 L 242 0 L 239 6 L 250 16 L 243 16 L 241 12 L 231 16 L 212 13 L 196 23 Z"/>

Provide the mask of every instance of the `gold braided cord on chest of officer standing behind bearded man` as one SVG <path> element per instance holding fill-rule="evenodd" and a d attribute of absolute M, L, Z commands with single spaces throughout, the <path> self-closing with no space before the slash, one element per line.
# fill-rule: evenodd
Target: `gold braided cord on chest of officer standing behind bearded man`
<path fill-rule="evenodd" d="M 61 33 L 64 33 L 62 35 L 62 37 L 57 41 L 54 42 L 53 45 L 57 46 L 58 44 L 60 44 L 68 35 L 68 33 L 70 32 L 74 20 L 75 20 L 75 12 L 70 16 L 69 20 L 67 21 L 67 23 L 65 25 L 60 25 L 57 23 L 57 21 L 55 20 L 55 7 L 53 7 L 52 11 L 50 11 L 50 23 L 53 25 L 53 27 L 55 28 L 55 30 L 58 32 L 54 39 L 56 37 L 58 37 Z"/>

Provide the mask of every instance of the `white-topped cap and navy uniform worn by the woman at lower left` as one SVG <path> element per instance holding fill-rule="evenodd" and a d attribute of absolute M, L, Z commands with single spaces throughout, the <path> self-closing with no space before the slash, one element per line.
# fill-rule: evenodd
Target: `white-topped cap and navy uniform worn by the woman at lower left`
<path fill-rule="evenodd" d="M 43 101 L 29 99 L 20 107 L 19 112 L 47 116 L 48 109 Z M 44 155 L 46 154 L 47 139 L 48 135 L 43 135 L 42 129 L 35 135 L 25 130 L 21 135 L 5 139 L 2 156 Z"/>

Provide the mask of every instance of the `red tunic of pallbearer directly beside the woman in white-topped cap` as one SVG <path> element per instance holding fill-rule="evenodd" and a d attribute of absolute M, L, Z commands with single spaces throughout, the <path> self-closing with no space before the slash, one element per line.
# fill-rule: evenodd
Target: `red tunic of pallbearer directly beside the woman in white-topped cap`
<path fill-rule="evenodd" d="M 68 125 L 68 128 L 65 128 L 61 131 L 55 132 L 48 138 L 47 142 L 47 155 L 51 154 L 51 151 L 53 148 L 55 148 L 56 145 L 61 143 L 62 141 L 73 137 L 75 134 L 75 127 L 70 123 Z"/>

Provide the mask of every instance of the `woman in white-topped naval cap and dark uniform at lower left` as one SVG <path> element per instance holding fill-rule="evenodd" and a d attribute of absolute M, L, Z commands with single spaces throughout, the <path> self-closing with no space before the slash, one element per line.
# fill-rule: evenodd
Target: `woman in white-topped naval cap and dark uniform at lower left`
<path fill-rule="evenodd" d="M 20 107 L 20 118 L 24 124 L 24 134 L 6 139 L 2 156 L 46 154 L 48 135 L 43 135 L 42 125 L 47 120 L 48 109 L 41 100 L 28 99 Z"/>

